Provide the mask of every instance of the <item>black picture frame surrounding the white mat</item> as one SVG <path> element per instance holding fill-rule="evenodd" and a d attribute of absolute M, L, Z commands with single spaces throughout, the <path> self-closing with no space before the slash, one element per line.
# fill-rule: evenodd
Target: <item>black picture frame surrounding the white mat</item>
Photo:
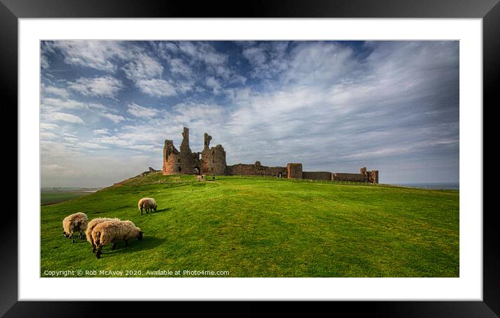
<path fill-rule="evenodd" d="M 494 80 L 500 74 L 500 4 L 498 0 L 261 0 L 251 1 L 243 6 L 236 6 L 234 2 L 229 1 L 217 3 L 208 1 L 193 5 L 189 1 L 174 3 L 140 0 L 0 0 L 0 43 L 2 43 L 0 91 L 3 96 L 3 108 L 11 109 L 15 118 L 17 118 L 17 112 L 14 110 L 17 109 L 17 20 L 31 17 L 482 18 L 483 104 L 490 107 L 500 105 Z M 483 109 L 485 108 L 483 106 Z M 17 165 L 17 171 L 19 169 L 27 169 L 27 167 Z M 17 301 L 17 215 L 11 211 L 5 212 L 0 222 L 2 237 L 0 243 L 2 256 L 0 315 L 5 315 L 4 317 L 83 317 L 92 315 L 96 306 L 110 305 L 122 312 L 130 312 L 129 310 L 138 306 L 128 301 L 121 302 L 119 305 L 82 301 Z M 375 317 L 499 317 L 500 252 L 498 246 L 500 246 L 500 232 L 495 222 L 497 212 L 495 209 L 473 212 L 483 213 L 483 301 L 360 301 L 355 303 L 336 301 L 316 304 L 314 311 L 326 309 L 331 312 L 331 307 L 334 306 L 335 312 L 346 309 L 351 314 L 365 312 Z M 260 303 L 233 302 L 234 304 L 239 305 L 239 313 L 233 312 L 235 315 L 252 315 L 260 312 Z M 166 307 L 172 310 L 172 303 Z M 204 303 L 203 306 L 197 306 L 184 303 L 182 307 L 184 310 L 189 308 L 190 311 L 203 307 L 204 312 L 209 312 L 214 308 L 214 304 Z M 286 302 L 279 307 L 280 310 L 297 312 L 296 303 Z M 309 313 L 314 313 L 314 311 L 308 310 Z"/>

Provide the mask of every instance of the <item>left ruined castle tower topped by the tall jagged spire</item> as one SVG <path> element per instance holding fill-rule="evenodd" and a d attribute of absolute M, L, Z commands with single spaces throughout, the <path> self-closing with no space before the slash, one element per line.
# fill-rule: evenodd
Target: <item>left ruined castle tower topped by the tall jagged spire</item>
<path fill-rule="evenodd" d="M 180 151 L 172 140 L 166 140 L 163 146 L 163 169 L 166 174 L 193 174 L 193 153 L 189 148 L 189 128 L 184 127 Z"/>

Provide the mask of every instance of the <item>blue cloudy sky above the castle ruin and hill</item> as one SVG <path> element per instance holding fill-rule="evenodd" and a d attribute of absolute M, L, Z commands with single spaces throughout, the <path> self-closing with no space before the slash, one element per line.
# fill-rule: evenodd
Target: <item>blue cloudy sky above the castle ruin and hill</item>
<path fill-rule="evenodd" d="M 163 144 L 228 165 L 459 181 L 458 41 L 41 41 L 41 186 L 161 169 Z"/>

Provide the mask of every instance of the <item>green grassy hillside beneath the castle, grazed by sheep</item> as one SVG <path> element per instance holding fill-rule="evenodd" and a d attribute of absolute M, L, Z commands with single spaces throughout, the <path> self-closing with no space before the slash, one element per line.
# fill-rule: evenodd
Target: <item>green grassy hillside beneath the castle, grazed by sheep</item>
<path fill-rule="evenodd" d="M 154 197 L 158 211 L 140 215 L 141 197 Z M 131 220 L 144 239 L 118 243 L 116 250 L 105 246 L 96 259 L 87 241 L 72 244 L 61 234 L 63 218 L 76 212 L 89 220 Z M 459 192 L 149 174 L 41 207 L 41 276 L 63 270 L 96 270 L 92 277 L 107 276 L 101 270 L 142 271 L 141 277 L 164 277 L 147 274 L 158 270 L 229 272 L 216 277 L 458 277 Z"/>

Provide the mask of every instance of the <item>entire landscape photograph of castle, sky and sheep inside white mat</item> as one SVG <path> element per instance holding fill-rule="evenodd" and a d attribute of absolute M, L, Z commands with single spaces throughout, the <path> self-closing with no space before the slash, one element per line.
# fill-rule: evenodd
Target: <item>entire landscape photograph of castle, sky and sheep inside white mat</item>
<path fill-rule="evenodd" d="M 40 40 L 40 278 L 460 278 L 460 41 Z"/>

